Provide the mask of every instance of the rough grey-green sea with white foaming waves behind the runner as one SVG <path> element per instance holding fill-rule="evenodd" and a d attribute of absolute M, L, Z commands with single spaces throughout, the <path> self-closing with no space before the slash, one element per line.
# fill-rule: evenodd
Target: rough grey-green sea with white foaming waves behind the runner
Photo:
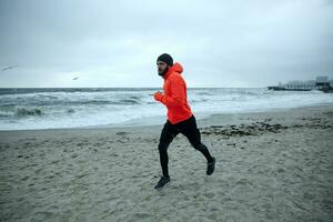
<path fill-rule="evenodd" d="M 154 88 L 0 89 L 0 130 L 154 125 L 167 109 Z M 193 88 L 188 101 L 196 119 L 216 113 L 264 112 L 333 104 L 333 93 L 266 88 Z"/>

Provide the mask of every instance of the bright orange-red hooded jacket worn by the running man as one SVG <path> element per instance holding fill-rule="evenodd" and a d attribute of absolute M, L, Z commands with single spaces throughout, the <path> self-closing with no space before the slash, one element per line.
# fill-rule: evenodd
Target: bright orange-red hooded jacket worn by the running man
<path fill-rule="evenodd" d="M 155 100 L 163 103 L 168 109 L 168 120 L 172 123 L 179 123 L 192 117 L 191 108 L 188 103 L 186 83 L 182 78 L 183 67 L 175 62 L 164 74 L 164 84 L 162 93 L 155 93 Z"/>

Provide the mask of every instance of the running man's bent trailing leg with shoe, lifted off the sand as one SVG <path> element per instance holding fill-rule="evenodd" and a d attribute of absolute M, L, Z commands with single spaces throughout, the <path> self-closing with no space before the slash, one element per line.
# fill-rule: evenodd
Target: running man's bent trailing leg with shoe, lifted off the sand
<path fill-rule="evenodd" d="M 212 174 L 215 168 L 215 158 L 211 155 L 209 149 L 201 142 L 201 134 L 196 127 L 194 115 L 192 115 L 189 120 L 179 123 L 179 130 L 188 138 L 192 147 L 205 157 L 208 161 L 206 174 Z"/>

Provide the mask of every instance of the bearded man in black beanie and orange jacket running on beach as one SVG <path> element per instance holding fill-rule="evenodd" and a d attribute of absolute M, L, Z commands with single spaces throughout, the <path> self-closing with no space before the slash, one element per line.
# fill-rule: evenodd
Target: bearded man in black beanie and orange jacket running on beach
<path fill-rule="evenodd" d="M 173 64 L 172 57 L 167 53 L 163 53 L 158 58 L 157 64 L 159 75 L 164 79 L 164 93 L 155 92 L 154 99 L 168 108 L 168 120 L 162 130 L 159 143 L 160 162 L 163 175 L 155 185 L 155 189 L 160 189 L 170 182 L 167 150 L 178 133 L 185 135 L 192 147 L 205 157 L 208 161 L 208 175 L 214 172 L 215 158 L 211 157 L 208 148 L 201 142 L 201 135 L 196 127 L 195 118 L 188 103 L 186 83 L 181 77 L 183 71 L 182 65 L 178 62 Z"/>

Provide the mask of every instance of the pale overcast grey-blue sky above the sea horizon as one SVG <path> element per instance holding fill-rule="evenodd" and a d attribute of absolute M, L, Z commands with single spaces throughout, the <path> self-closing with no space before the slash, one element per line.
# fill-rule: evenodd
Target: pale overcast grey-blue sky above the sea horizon
<path fill-rule="evenodd" d="M 163 52 L 188 87 L 333 79 L 333 0 L 0 0 L 0 87 L 161 87 Z"/>

